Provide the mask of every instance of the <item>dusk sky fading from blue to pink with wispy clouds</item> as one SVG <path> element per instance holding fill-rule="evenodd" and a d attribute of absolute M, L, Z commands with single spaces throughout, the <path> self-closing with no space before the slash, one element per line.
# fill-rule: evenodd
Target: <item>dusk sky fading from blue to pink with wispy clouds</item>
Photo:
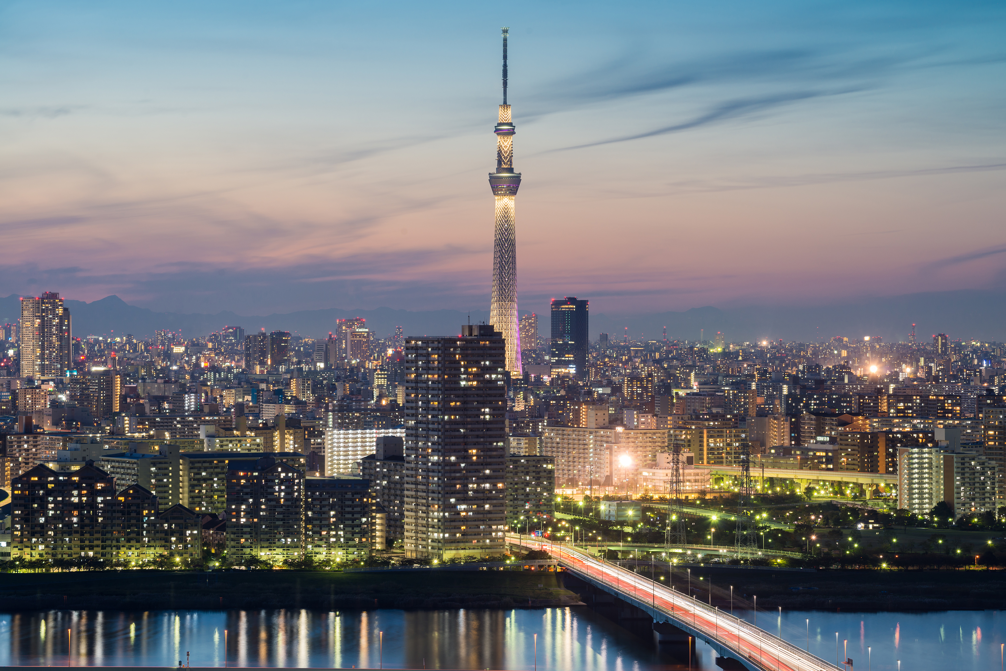
<path fill-rule="evenodd" d="M 1001 2 L 0 2 L 0 294 L 487 310 L 1006 287 Z"/>

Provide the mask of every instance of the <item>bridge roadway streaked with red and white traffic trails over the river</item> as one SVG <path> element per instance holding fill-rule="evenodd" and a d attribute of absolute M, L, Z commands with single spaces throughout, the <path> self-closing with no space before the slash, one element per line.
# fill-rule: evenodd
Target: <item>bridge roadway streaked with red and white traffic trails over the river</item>
<path fill-rule="evenodd" d="M 516 534 L 508 535 L 507 540 L 514 545 L 548 552 L 570 572 L 642 609 L 654 622 L 671 623 L 705 641 L 721 657 L 738 660 L 750 671 L 842 671 L 745 620 L 631 570 L 599 560 L 578 548 L 526 536 L 518 538 Z"/>

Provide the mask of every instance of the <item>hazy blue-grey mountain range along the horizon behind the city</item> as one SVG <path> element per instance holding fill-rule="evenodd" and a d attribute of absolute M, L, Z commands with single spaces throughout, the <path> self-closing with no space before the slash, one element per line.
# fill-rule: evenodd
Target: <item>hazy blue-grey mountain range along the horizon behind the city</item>
<path fill-rule="evenodd" d="M 363 317 L 367 326 L 378 336 L 385 337 L 401 326 L 406 335 L 447 335 L 458 333 L 460 326 L 486 321 L 489 311 L 459 310 L 408 311 L 391 308 L 375 310 L 303 310 L 267 316 L 236 315 L 219 312 L 215 315 L 154 312 L 129 305 L 118 296 L 85 303 L 67 300 L 73 317 L 73 334 L 117 335 L 132 333 L 138 338 L 154 334 L 158 329 L 181 331 L 193 338 L 217 331 L 224 326 L 241 326 L 245 332 L 261 328 L 290 331 L 305 337 L 319 338 L 335 330 L 337 319 Z M 0 298 L 0 319 L 4 323 L 20 316 L 19 297 Z M 885 340 L 904 340 L 917 324 L 920 341 L 935 333 L 947 333 L 951 338 L 1006 340 L 1006 292 L 957 291 L 907 294 L 836 302 L 821 306 L 748 306 L 733 308 L 701 307 L 684 312 L 649 314 L 592 313 L 590 333 L 596 340 L 600 333 L 609 333 L 621 340 L 628 327 L 629 337 L 642 335 L 647 340 L 659 340 L 667 328 L 670 339 L 698 340 L 700 334 L 711 340 L 721 331 L 727 341 L 743 342 L 762 339 L 819 341 L 832 336 L 850 339 L 881 336 Z M 540 334 L 548 336 L 547 315 L 539 316 Z"/>

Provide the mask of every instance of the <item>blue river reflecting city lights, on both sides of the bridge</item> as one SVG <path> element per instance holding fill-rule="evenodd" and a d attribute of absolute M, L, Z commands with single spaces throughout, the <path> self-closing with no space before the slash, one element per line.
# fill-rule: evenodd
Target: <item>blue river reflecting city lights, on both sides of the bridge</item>
<path fill-rule="evenodd" d="M 750 613 L 744 614 L 753 620 Z M 758 624 L 834 662 L 904 671 L 999 668 L 1002 612 L 760 612 Z M 535 638 L 537 635 L 537 638 Z M 67 649 L 70 651 L 67 659 Z M 647 671 L 687 669 L 658 645 L 590 609 L 319 612 L 47 611 L 0 613 L 0 665 L 228 666 Z M 718 669 L 696 647 L 692 668 Z"/>

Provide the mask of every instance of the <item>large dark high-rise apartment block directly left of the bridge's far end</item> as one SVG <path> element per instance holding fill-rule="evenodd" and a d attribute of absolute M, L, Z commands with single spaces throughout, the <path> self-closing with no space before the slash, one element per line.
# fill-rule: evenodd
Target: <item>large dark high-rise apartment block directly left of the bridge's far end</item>
<path fill-rule="evenodd" d="M 506 343 L 492 326 L 405 339 L 405 555 L 502 551 Z"/>

